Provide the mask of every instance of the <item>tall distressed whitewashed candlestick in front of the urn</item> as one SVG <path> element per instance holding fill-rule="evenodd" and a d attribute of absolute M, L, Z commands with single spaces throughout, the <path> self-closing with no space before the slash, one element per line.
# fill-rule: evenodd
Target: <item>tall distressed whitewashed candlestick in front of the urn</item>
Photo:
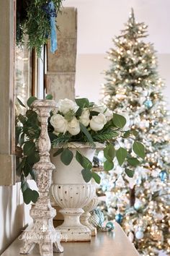
<path fill-rule="evenodd" d="M 50 205 L 49 196 L 51 176 L 55 166 L 50 162 L 49 157 L 48 117 L 50 116 L 51 109 L 55 108 L 55 101 L 36 100 L 32 103 L 32 106 L 39 112 L 41 123 L 40 138 L 38 140 L 40 161 L 35 163 L 34 166 L 37 173 L 37 187 L 40 196 L 35 206 L 30 210 L 33 224 L 30 230 L 24 231 L 23 238 L 25 244 L 20 249 L 20 253 L 27 254 L 35 244 L 39 244 L 40 255 L 53 256 L 53 249 L 55 252 L 63 252 L 63 247 L 60 244 L 60 233 L 53 226 L 56 210 Z"/>

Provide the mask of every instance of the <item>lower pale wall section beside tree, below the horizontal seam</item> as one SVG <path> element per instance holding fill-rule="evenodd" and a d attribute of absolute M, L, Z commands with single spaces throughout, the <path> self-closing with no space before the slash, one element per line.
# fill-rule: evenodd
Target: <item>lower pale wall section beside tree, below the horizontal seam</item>
<path fill-rule="evenodd" d="M 105 54 L 79 54 L 76 63 L 76 96 L 87 97 L 91 101 L 102 98 L 104 70 L 110 62 Z M 158 71 L 164 79 L 167 106 L 170 109 L 170 54 L 158 54 Z"/>

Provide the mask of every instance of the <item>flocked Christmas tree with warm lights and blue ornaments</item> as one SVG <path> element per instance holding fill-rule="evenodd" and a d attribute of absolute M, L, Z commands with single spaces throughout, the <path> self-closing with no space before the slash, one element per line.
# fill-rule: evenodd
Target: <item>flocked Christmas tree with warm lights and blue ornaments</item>
<path fill-rule="evenodd" d="M 158 74 L 153 44 L 144 42 L 147 26 L 136 22 L 133 10 L 115 48 L 108 53 L 110 68 L 103 85 L 104 103 L 119 114 L 128 112 L 127 132 L 120 146 L 131 148 L 133 137 L 146 145 L 146 158 L 128 152 L 123 166 L 102 174 L 107 220 L 116 219 L 140 255 L 170 255 L 169 237 L 169 135 L 164 82 Z M 131 178 L 126 175 L 131 171 Z M 99 191 L 101 193 L 101 191 Z M 102 204 L 102 210 L 104 203 Z"/>

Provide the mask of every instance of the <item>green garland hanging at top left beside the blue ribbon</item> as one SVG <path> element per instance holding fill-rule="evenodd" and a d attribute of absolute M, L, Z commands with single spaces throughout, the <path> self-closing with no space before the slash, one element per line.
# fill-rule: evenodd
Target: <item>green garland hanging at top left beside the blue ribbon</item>
<path fill-rule="evenodd" d="M 60 11 L 62 1 L 53 0 L 56 13 Z M 48 14 L 42 9 L 47 3 L 47 0 L 17 0 L 17 46 L 23 46 L 24 35 L 27 35 L 27 47 L 35 48 L 39 57 L 50 35 Z"/>

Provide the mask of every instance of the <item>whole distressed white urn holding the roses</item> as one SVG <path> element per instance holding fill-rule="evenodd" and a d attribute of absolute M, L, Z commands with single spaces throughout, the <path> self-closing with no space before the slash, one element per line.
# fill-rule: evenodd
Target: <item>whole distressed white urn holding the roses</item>
<path fill-rule="evenodd" d="M 73 160 L 68 166 L 61 162 L 61 155 L 53 157 L 57 148 L 51 150 L 50 154 L 55 165 L 51 193 L 57 205 L 61 206 L 60 213 L 64 216 L 63 224 L 57 229 L 61 231 L 61 241 L 90 241 L 91 231 L 81 224 L 80 216 L 84 213 L 82 208 L 94 197 L 96 185 L 84 181 L 81 174 L 83 167 L 76 161 L 76 150 L 92 161 L 96 148 L 102 148 L 102 144 L 97 143 L 96 148 L 90 148 L 88 143 L 70 142 L 67 148 L 73 152 Z"/>

